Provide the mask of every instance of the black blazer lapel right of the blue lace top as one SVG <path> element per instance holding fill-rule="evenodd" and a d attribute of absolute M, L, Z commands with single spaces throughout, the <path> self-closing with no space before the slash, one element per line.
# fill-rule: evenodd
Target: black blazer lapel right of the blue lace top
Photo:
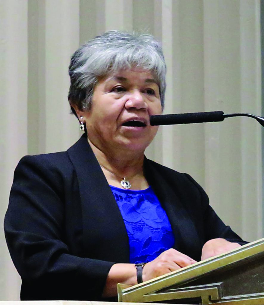
<path fill-rule="evenodd" d="M 154 163 L 155 164 L 155 163 Z M 195 260 L 200 260 L 201 246 L 199 236 L 195 225 L 184 208 L 184 203 L 178 196 L 177 179 L 173 181 L 175 188 L 172 188 L 164 173 L 162 173 L 152 163 L 145 158 L 144 163 L 145 176 L 156 193 L 161 205 L 167 213 L 171 228 L 174 233 L 175 243 L 174 249 L 192 257 Z M 188 190 L 186 190 L 188 192 Z"/>

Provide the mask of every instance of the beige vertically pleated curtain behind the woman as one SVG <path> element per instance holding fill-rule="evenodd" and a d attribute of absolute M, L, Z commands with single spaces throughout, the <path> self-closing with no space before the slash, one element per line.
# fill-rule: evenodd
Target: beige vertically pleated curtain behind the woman
<path fill-rule="evenodd" d="M 71 54 L 106 30 L 143 30 L 163 43 L 165 113 L 261 114 L 259 0 L 0 0 L 1 222 L 13 171 L 26 154 L 79 138 L 69 114 Z M 261 127 L 249 118 L 161 127 L 147 156 L 188 172 L 244 239 L 261 238 Z M 0 299 L 20 279 L 0 235 Z"/>

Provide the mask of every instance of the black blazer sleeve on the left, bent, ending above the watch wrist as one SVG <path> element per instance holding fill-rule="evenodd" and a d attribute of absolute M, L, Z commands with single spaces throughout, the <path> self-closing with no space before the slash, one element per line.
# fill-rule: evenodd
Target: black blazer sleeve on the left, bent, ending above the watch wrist
<path fill-rule="evenodd" d="M 26 156 L 16 167 L 4 228 L 22 278 L 21 299 L 98 300 L 114 264 L 70 253 L 63 179 L 45 157 Z M 24 295 L 23 285 L 30 287 Z"/>

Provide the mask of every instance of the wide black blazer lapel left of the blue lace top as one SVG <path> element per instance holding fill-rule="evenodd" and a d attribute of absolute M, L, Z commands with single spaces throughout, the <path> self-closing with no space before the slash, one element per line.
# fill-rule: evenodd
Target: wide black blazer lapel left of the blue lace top
<path fill-rule="evenodd" d="M 86 135 L 82 135 L 67 152 L 79 183 L 83 246 L 87 257 L 128 263 L 129 242 L 125 224 Z"/>

